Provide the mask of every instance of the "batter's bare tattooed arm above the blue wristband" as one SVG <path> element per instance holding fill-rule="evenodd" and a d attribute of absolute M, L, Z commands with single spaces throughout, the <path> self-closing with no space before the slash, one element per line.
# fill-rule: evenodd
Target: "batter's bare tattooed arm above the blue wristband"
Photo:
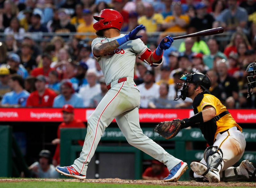
<path fill-rule="evenodd" d="M 116 40 L 112 40 L 98 46 L 95 45 L 95 47 L 93 48 L 93 53 L 95 55 L 109 54 L 113 52 L 117 47 L 119 47 L 118 42 Z"/>

